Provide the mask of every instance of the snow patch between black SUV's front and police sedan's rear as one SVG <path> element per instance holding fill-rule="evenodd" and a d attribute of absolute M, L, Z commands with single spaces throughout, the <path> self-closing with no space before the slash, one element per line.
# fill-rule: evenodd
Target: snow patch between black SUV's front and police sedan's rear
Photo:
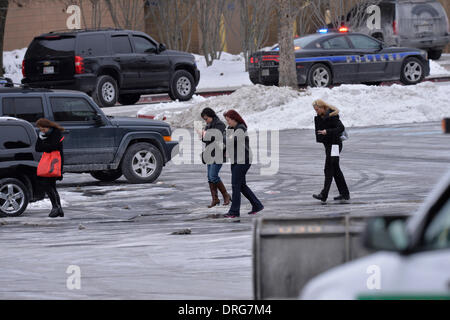
<path fill-rule="evenodd" d="M 236 88 L 252 84 L 248 72 L 245 71 L 245 60 L 242 54 L 232 55 L 223 52 L 220 60 L 214 60 L 209 67 L 206 66 L 205 57 L 196 54 L 194 56 L 200 70 L 200 83 L 197 90 Z"/>

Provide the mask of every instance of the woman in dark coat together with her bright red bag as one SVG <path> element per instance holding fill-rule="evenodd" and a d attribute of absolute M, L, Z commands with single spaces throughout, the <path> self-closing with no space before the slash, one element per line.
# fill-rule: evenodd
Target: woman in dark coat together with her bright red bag
<path fill-rule="evenodd" d="M 39 119 L 36 126 L 40 130 L 36 141 L 36 151 L 43 152 L 37 175 L 39 182 L 52 203 L 50 218 L 64 217 L 61 200 L 56 190 L 56 181 L 62 180 L 64 166 L 62 132 L 64 128 L 48 119 Z"/>

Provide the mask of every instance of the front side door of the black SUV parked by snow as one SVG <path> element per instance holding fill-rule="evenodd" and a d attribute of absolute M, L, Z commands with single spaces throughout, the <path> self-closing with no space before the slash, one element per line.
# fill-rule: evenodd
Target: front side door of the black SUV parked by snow
<path fill-rule="evenodd" d="M 141 88 L 167 88 L 170 64 L 165 54 L 160 54 L 157 44 L 147 37 L 133 35 L 133 44 L 138 59 Z"/>

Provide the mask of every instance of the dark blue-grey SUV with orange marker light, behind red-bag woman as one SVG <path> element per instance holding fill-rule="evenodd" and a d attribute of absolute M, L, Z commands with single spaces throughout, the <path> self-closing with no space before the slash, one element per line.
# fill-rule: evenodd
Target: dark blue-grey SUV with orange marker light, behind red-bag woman
<path fill-rule="evenodd" d="M 78 91 L 0 88 L 0 116 L 58 122 L 66 129 L 64 172 L 87 172 L 101 181 L 123 174 L 131 183 L 153 182 L 178 151 L 167 123 L 107 117 Z"/>

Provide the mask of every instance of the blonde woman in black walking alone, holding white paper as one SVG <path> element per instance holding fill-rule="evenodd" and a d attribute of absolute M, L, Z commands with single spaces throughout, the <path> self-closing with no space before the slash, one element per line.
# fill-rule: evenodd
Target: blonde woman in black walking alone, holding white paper
<path fill-rule="evenodd" d="M 342 133 L 345 127 L 339 119 L 339 110 L 322 100 L 313 103 L 317 115 L 314 118 L 316 141 L 323 143 L 325 147 L 325 182 L 323 190 L 313 197 L 326 203 L 331 183 L 334 181 L 338 187 L 340 195 L 335 197 L 336 201 L 350 200 L 350 192 L 345 181 L 344 174 L 339 166 L 340 153 L 342 152 Z"/>

